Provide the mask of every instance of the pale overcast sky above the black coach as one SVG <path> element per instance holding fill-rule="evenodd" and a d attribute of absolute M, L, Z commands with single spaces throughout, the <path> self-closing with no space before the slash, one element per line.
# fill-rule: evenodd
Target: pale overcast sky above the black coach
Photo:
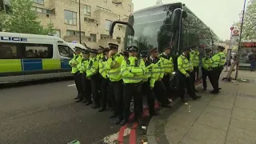
<path fill-rule="evenodd" d="M 134 11 L 154 6 L 157 0 L 132 0 Z M 244 0 L 162 0 L 182 2 L 222 40 L 230 39 L 230 26 L 239 19 Z"/>

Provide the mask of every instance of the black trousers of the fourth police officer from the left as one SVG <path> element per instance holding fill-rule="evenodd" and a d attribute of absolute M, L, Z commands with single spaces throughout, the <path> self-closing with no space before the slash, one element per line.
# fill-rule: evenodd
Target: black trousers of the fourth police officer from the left
<path fill-rule="evenodd" d="M 106 108 L 106 103 L 108 100 L 108 87 L 109 87 L 109 80 L 107 78 L 103 78 L 101 76 L 101 87 L 100 87 L 100 91 L 101 91 L 101 100 L 102 100 L 102 108 Z"/>

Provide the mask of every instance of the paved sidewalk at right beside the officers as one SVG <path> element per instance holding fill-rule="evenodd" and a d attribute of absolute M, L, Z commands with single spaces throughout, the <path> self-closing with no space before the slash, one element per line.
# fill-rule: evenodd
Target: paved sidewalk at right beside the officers
<path fill-rule="evenodd" d="M 238 74 L 246 81 L 220 82 L 219 94 L 199 87 L 202 99 L 188 105 L 175 101 L 173 110 L 162 110 L 147 127 L 148 143 L 255 144 L 256 72 L 239 70 Z M 210 82 L 208 86 L 212 89 Z"/>

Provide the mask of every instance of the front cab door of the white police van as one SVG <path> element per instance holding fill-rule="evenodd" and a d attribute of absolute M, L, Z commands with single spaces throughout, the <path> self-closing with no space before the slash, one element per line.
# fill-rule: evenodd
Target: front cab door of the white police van
<path fill-rule="evenodd" d="M 61 62 L 60 77 L 71 76 L 70 60 L 73 58 L 74 51 L 64 44 L 58 44 L 58 59 Z"/>

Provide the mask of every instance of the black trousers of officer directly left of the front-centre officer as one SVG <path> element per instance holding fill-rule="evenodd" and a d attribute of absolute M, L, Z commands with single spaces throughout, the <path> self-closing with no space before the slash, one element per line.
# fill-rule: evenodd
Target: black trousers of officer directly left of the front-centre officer
<path fill-rule="evenodd" d="M 118 118 L 122 120 L 123 112 L 123 87 L 122 80 L 118 82 L 110 82 L 113 88 L 112 100 L 114 102 L 114 115 L 118 115 Z"/>

